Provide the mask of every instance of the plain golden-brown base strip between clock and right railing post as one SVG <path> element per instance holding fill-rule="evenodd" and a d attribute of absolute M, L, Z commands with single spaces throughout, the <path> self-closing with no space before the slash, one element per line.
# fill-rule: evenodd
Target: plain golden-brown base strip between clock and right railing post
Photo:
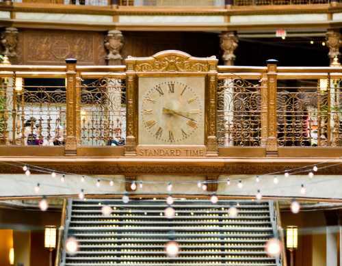
<path fill-rule="evenodd" d="M 266 150 L 261 147 L 227 147 L 218 148 L 218 156 L 222 157 L 265 157 Z"/>

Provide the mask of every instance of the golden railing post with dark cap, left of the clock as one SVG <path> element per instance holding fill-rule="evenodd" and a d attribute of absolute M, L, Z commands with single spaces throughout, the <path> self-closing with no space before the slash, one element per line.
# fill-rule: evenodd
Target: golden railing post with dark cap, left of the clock
<path fill-rule="evenodd" d="M 66 142 L 65 155 L 77 153 L 77 90 L 76 63 L 77 59 L 68 58 L 66 62 Z"/>

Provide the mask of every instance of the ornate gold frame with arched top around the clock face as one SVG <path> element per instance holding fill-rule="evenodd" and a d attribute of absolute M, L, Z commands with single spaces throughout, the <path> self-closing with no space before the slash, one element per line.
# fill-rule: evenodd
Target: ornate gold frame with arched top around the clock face
<path fill-rule="evenodd" d="M 175 50 L 162 51 L 151 57 L 127 57 L 127 137 L 125 156 L 137 155 L 138 78 L 139 77 L 205 77 L 205 146 L 207 157 L 218 156 L 216 137 L 216 98 L 218 59 L 192 57 Z"/>

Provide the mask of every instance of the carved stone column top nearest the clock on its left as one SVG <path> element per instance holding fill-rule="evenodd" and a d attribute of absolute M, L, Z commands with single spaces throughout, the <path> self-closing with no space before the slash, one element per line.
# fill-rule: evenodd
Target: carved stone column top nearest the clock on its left
<path fill-rule="evenodd" d="M 105 59 L 109 66 L 121 64 L 122 56 L 120 55 L 120 51 L 123 45 L 124 36 L 122 36 L 121 31 L 108 31 L 107 36 L 105 36 L 105 49 L 107 50 Z"/>

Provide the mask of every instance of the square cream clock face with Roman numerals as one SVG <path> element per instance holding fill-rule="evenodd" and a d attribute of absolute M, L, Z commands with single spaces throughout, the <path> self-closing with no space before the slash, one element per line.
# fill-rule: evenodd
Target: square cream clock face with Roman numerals
<path fill-rule="evenodd" d="M 203 144 L 204 85 L 198 88 L 191 78 L 155 79 L 139 97 L 140 144 Z"/>

